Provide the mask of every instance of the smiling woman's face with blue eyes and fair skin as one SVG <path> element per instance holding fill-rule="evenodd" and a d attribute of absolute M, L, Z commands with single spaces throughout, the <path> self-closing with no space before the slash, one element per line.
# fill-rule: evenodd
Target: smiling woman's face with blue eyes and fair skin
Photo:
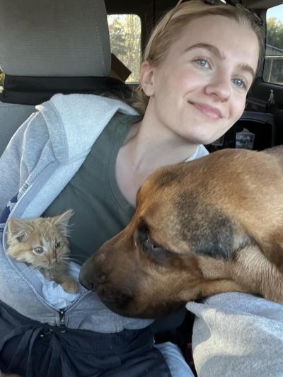
<path fill-rule="evenodd" d="M 190 22 L 151 67 L 151 116 L 194 144 L 211 143 L 241 117 L 258 56 L 250 28 L 224 16 Z"/>

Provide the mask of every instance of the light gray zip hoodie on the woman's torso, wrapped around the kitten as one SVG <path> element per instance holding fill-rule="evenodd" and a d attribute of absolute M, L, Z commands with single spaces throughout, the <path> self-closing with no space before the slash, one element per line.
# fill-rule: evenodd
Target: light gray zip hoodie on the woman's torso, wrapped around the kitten
<path fill-rule="evenodd" d="M 115 112 L 137 114 L 119 100 L 97 95 L 57 94 L 36 108 L 0 158 L 0 301 L 50 325 L 96 332 L 148 326 L 153 320 L 112 313 L 82 286 L 71 303 L 55 308 L 45 298 L 44 278 L 6 256 L 7 220 L 40 216 L 79 169 Z M 207 153 L 199 146 L 189 159 Z"/>

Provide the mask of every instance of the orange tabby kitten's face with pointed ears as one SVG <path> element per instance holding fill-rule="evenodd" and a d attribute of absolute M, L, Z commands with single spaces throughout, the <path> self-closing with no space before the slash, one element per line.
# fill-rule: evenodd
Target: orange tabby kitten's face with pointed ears
<path fill-rule="evenodd" d="M 67 224 L 72 214 L 67 211 L 48 218 L 11 219 L 7 254 L 18 262 L 51 269 L 69 253 Z"/>

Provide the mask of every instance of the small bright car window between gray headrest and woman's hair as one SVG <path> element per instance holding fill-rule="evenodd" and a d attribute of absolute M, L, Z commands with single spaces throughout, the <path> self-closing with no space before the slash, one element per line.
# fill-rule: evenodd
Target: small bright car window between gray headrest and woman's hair
<path fill-rule="evenodd" d="M 108 15 L 111 52 L 132 71 L 126 82 L 139 81 L 141 20 L 136 14 Z"/>

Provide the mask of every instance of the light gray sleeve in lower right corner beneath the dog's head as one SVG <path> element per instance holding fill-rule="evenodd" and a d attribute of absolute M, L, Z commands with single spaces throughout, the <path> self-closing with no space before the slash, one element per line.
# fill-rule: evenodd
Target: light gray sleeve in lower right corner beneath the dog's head
<path fill-rule="evenodd" d="M 195 313 L 192 348 L 199 377 L 282 376 L 283 306 L 236 292 L 202 303 Z"/>

